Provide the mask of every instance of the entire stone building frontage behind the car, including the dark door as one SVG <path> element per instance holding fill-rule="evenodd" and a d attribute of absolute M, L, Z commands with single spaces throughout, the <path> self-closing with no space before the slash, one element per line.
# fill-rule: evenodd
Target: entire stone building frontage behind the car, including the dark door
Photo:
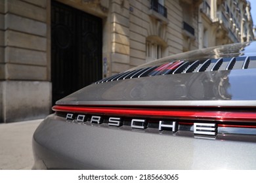
<path fill-rule="evenodd" d="M 249 4 L 236 2 L 240 19 L 225 27 L 221 0 L 0 0 L 0 122 L 42 118 L 64 95 L 147 61 L 250 41 Z"/>

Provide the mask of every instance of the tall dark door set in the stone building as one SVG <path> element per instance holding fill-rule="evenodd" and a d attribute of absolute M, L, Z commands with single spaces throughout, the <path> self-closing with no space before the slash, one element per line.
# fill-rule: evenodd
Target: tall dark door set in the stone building
<path fill-rule="evenodd" d="M 52 1 L 51 80 L 53 105 L 102 78 L 102 20 Z"/>

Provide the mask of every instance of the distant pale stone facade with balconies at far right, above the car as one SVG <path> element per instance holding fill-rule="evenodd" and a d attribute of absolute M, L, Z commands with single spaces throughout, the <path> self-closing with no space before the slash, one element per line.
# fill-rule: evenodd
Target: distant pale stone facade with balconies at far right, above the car
<path fill-rule="evenodd" d="M 249 1 L 204 0 L 199 18 L 199 48 L 254 40 Z"/>

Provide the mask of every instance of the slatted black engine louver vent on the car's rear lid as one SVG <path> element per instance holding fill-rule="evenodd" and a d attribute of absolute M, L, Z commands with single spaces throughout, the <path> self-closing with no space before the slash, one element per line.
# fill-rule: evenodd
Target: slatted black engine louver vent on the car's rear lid
<path fill-rule="evenodd" d="M 104 78 L 96 84 L 111 82 L 114 80 L 125 80 L 129 78 L 141 78 L 146 76 L 158 75 L 175 75 L 181 73 L 199 73 L 204 71 L 224 71 L 232 69 L 251 69 L 256 68 L 256 56 L 253 57 L 236 57 L 236 58 L 219 58 L 196 61 L 171 61 L 163 65 L 146 67 L 133 71 L 126 71 L 108 78 Z"/>

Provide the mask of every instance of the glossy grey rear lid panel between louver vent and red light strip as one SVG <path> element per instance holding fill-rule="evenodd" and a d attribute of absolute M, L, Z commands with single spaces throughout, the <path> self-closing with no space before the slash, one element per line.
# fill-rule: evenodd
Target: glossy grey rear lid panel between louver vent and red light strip
<path fill-rule="evenodd" d="M 57 105 L 255 107 L 256 69 L 211 71 L 91 84 Z"/>

